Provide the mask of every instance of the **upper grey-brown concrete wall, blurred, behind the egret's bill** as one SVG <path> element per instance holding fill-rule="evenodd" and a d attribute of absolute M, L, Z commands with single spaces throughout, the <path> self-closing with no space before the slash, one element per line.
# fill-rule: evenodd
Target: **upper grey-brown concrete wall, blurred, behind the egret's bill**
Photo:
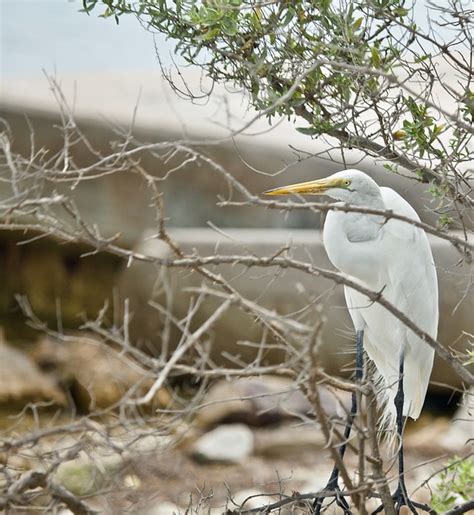
<path fill-rule="evenodd" d="M 25 107 L 10 103 L 2 105 L 0 102 L 0 118 L 8 123 L 13 135 L 14 150 L 22 155 L 30 153 L 30 125 L 26 115 L 35 130 L 36 147 L 44 147 L 50 153 L 58 151 L 62 138 L 57 129 L 60 120 L 54 111 L 33 108 L 25 111 Z M 77 122 L 99 151 L 110 151 L 110 141 L 117 136 L 106 124 L 97 119 L 80 117 Z M 137 126 L 135 134 L 142 141 L 173 141 L 182 137 L 175 128 L 166 124 L 158 125 L 155 130 Z M 311 140 L 306 138 L 306 144 L 308 143 L 311 144 Z M 320 143 L 315 142 L 314 151 L 320 150 L 319 146 Z M 202 145 L 200 148 L 255 194 L 289 182 L 324 177 L 343 168 L 341 164 L 314 157 L 294 164 L 284 173 L 272 176 L 255 173 L 245 164 L 249 162 L 262 172 L 271 174 L 284 167 L 285 163 L 293 162 L 295 155 L 281 137 L 273 142 L 268 138 L 255 138 L 254 141 L 246 139 L 239 144 L 238 149 L 232 142 Z M 78 164 L 91 162 L 91 156 L 83 146 L 74 149 L 72 155 Z M 164 165 L 149 156 L 143 156 L 140 162 L 145 169 L 157 176 L 164 176 L 170 168 L 178 164 L 172 162 Z M 426 193 L 426 186 L 390 174 L 369 160 L 359 163 L 357 167 L 371 174 L 380 185 L 396 189 L 417 209 L 424 221 L 436 222 L 437 217 L 432 212 L 436 203 Z M 54 187 L 58 189 L 57 185 Z M 67 190 L 68 186 L 63 188 L 71 195 L 71 191 Z M 160 183 L 160 188 L 170 226 L 199 227 L 206 226 L 211 221 L 220 227 L 313 228 L 319 227 L 321 222 L 319 216 L 306 211 L 282 213 L 256 206 L 219 208 L 219 197 L 228 197 L 229 184 L 221 175 L 201 163 L 185 166 L 171 179 Z M 60 187 L 59 189 L 61 190 Z M 7 185 L 0 182 L 0 198 L 9 194 Z M 137 175 L 133 173 L 84 181 L 74 190 L 73 198 L 87 221 L 98 224 L 106 236 L 120 232 L 122 244 L 128 246 L 133 245 L 143 230 L 154 224 L 154 210 L 148 207 L 150 192 L 146 184 L 140 184 Z M 233 199 L 241 200 L 241 197 L 234 192 Z"/>

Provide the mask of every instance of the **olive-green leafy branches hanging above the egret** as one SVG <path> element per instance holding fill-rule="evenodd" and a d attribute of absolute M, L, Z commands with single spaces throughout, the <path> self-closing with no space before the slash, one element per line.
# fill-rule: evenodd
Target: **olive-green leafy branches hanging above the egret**
<path fill-rule="evenodd" d="M 186 63 L 247 92 L 269 120 L 287 116 L 310 137 L 430 183 L 441 222 L 470 203 L 469 2 L 83 0 L 83 10 L 117 22 L 134 14 Z"/>

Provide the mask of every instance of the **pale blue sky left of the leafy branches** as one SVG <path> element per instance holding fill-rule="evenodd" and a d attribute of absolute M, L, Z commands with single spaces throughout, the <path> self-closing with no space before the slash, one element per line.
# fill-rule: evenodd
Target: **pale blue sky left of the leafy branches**
<path fill-rule="evenodd" d="M 38 75 L 158 67 L 153 35 L 133 16 L 99 18 L 79 12 L 79 0 L 0 0 L 0 72 Z M 158 44 L 165 62 L 171 45 Z"/>

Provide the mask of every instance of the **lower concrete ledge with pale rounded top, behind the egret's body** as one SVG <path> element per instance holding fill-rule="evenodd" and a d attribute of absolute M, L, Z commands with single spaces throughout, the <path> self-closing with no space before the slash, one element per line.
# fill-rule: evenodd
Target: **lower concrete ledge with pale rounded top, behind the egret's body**
<path fill-rule="evenodd" d="M 217 249 L 223 255 L 249 253 L 270 256 L 278 249 L 289 244 L 295 259 L 313 262 L 316 266 L 332 269 L 322 245 L 321 233 L 315 230 L 249 230 L 227 229 L 226 236 L 211 229 L 174 229 L 172 237 L 187 253 L 213 255 Z M 137 250 L 149 255 L 165 257 L 168 250 L 163 242 L 150 240 L 146 233 Z M 440 286 L 440 326 L 439 341 L 456 350 L 465 350 L 468 334 L 474 333 L 474 292 L 467 289 L 473 272 L 470 265 L 459 266 L 459 254 L 443 240 L 431 238 Z M 324 317 L 322 357 L 325 365 L 332 371 L 341 371 L 351 361 L 348 353 L 353 351 L 353 329 L 349 318 L 342 286 L 332 281 L 311 277 L 297 270 L 278 270 L 275 268 L 252 268 L 247 270 L 240 265 L 219 265 L 211 269 L 222 274 L 246 298 L 259 302 L 279 314 L 300 313 L 297 318 L 310 325 Z M 120 293 L 123 298 L 131 299 L 133 313 L 131 334 L 134 339 L 148 342 L 159 349 L 161 340 L 161 318 L 158 312 L 148 305 L 149 299 L 166 302 L 160 286 L 163 285 L 163 271 L 154 265 L 135 263 L 124 269 Z M 178 318 L 184 317 L 189 307 L 191 287 L 199 287 L 202 277 L 190 270 L 170 269 L 166 280 L 173 292 L 172 310 Z M 308 301 L 313 301 L 310 310 L 301 311 Z M 196 323 L 206 320 L 219 301 L 205 302 L 196 317 Z M 238 308 L 231 308 L 214 327 L 214 358 L 222 358 L 222 352 L 240 355 L 251 360 L 255 352 L 238 342 L 259 342 L 260 327 L 252 317 Z M 281 354 L 267 353 L 267 360 L 275 362 Z M 432 380 L 459 386 L 459 381 L 444 362 L 436 361 Z"/>

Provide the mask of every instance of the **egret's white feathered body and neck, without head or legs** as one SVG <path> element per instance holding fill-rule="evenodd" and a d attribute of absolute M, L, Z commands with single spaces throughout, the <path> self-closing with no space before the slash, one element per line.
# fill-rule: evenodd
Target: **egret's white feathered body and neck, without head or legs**
<path fill-rule="evenodd" d="M 375 209 L 419 220 L 415 210 L 390 188 L 379 188 Z M 360 213 L 329 212 L 323 232 L 324 245 L 333 265 L 372 291 L 382 291 L 423 331 L 436 338 L 438 283 L 431 248 L 425 232 L 399 220 Z M 434 350 L 391 315 L 356 290 L 344 287 L 354 327 L 364 330 L 364 348 L 380 375 L 379 397 L 386 418 L 395 421 L 394 398 L 398 387 L 398 356 L 405 354 L 403 415 L 418 418 L 428 388 Z"/>

